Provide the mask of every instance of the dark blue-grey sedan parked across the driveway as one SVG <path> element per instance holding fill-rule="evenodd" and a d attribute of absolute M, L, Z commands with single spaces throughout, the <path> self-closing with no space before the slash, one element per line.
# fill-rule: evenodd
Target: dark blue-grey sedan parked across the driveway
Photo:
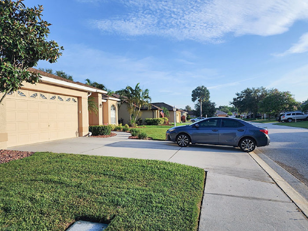
<path fill-rule="evenodd" d="M 270 144 L 267 128 L 227 117 L 211 117 L 170 128 L 166 132 L 166 140 L 176 142 L 180 147 L 186 147 L 189 143 L 227 145 L 240 147 L 244 152 Z"/>

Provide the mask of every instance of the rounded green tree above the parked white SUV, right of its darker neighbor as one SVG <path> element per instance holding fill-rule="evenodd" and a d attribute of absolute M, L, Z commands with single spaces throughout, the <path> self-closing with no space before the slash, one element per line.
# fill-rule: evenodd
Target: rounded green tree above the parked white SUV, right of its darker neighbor
<path fill-rule="evenodd" d="M 269 90 L 269 94 L 260 101 L 260 110 L 263 113 L 279 115 L 281 111 L 292 111 L 294 107 L 299 107 L 290 91 Z"/>

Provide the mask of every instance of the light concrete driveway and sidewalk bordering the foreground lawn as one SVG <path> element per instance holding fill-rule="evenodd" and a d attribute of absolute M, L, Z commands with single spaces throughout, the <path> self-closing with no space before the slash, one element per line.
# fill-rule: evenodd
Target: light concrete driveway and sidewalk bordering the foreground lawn
<path fill-rule="evenodd" d="M 308 220 L 248 153 L 238 148 L 78 137 L 10 148 L 99 156 L 156 159 L 204 168 L 207 172 L 199 230 L 308 230 Z"/>

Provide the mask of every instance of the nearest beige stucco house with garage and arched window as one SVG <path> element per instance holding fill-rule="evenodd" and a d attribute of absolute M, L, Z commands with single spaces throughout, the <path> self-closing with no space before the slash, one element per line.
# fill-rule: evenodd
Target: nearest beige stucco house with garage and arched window
<path fill-rule="evenodd" d="M 118 100 L 106 96 L 107 91 L 34 68 L 29 71 L 38 72 L 41 81 L 23 82 L 0 104 L 0 149 L 87 135 L 90 94 L 102 104 L 98 115 L 90 116 L 91 124 L 117 122 Z"/>

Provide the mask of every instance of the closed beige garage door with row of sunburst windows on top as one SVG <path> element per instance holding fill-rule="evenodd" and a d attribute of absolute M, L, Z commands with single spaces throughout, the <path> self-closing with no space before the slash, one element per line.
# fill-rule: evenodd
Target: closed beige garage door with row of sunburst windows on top
<path fill-rule="evenodd" d="M 19 90 L 6 96 L 7 146 L 78 136 L 76 97 Z"/>

